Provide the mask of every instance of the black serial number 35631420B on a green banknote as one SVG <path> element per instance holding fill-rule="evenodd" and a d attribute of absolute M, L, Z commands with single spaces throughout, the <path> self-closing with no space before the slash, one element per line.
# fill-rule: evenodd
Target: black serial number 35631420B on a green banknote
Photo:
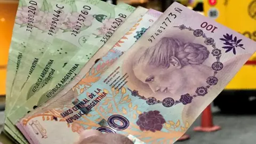
<path fill-rule="evenodd" d="M 125 14 L 122 14 L 122 13 L 119 13 L 118 16 L 122 17 L 124 19 L 127 17 Z M 111 28 L 108 29 L 107 33 L 105 34 L 105 36 L 103 36 L 103 38 L 100 40 L 100 42 L 106 43 L 108 41 L 108 39 L 111 37 L 111 35 L 113 35 L 115 30 L 121 25 L 122 22 L 123 22 L 122 19 L 115 18 L 113 25 L 111 25 Z"/>

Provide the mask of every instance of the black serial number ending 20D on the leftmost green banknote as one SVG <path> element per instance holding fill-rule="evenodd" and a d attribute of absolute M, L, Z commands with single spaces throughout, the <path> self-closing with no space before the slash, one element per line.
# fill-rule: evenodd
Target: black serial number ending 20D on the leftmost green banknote
<path fill-rule="evenodd" d="M 34 27 L 34 20 L 35 20 L 35 14 L 36 14 L 36 7 L 33 5 L 37 5 L 35 1 L 30 1 L 29 2 L 31 5 L 28 6 L 28 26 L 26 31 L 29 31 L 30 33 L 32 32 L 32 28 Z"/>

